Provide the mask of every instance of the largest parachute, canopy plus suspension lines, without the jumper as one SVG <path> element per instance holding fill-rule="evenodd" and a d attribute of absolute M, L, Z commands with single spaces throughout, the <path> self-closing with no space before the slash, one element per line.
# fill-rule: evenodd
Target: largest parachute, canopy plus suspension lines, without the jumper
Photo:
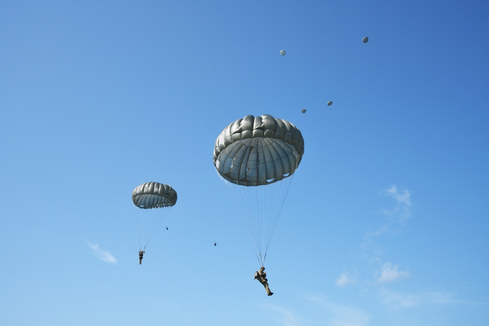
<path fill-rule="evenodd" d="M 289 121 L 267 114 L 238 119 L 216 139 L 216 171 L 229 186 L 226 188 L 262 266 L 303 154 L 301 131 Z"/>

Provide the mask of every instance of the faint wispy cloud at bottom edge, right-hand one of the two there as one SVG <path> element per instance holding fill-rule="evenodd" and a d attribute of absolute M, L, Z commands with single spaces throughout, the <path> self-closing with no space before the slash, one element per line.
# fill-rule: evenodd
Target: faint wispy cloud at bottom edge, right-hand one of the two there
<path fill-rule="evenodd" d="M 311 296 L 308 299 L 326 310 L 329 321 L 324 323 L 325 325 L 366 326 L 369 323 L 370 315 L 356 307 L 336 304 L 320 296 Z"/>

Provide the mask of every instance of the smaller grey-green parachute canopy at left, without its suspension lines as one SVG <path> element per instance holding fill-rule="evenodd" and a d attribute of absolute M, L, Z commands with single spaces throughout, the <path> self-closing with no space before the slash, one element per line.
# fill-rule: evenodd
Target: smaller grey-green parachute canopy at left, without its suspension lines
<path fill-rule="evenodd" d="M 134 188 L 133 203 L 143 209 L 169 207 L 177 203 L 177 192 L 163 183 L 146 182 Z"/>

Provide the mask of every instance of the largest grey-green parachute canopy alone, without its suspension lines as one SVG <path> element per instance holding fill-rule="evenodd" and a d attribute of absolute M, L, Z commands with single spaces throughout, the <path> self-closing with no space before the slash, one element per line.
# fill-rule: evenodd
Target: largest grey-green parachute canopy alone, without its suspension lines
<path fill-rule="evenodd" d="M 295 172 L 304 154 L 302 133 L 271 115 L 247 115 L 222 130 L 213 161 L 222 178 L 243 186 L 280 181 Z"/>

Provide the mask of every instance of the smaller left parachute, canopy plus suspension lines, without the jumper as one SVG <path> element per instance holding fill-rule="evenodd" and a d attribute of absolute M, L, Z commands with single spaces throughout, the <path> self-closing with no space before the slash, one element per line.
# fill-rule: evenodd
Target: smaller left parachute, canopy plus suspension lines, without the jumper
<path fill-rule="evenodd" d="M 177 192 L 163 183 L 145 182 L 134 188 L 132 197 L 133 204 L 139 208 L 136 211 L 136 224 L 139 250 L 143 250 L 177 203 Z"/>

